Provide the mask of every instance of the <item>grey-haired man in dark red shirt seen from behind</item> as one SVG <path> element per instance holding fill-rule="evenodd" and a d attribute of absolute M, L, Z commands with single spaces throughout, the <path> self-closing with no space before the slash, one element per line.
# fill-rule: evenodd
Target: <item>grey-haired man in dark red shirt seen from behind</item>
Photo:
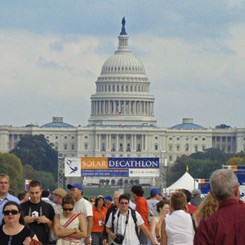
<path fill-rule="evenodd" d="M 197 228 L 194 245 L 245 244 L 245 207 L 239 202 L 240 191 L 232 170 L 219 169 L 210 177 L 211 194 L 218 210 Z"/>

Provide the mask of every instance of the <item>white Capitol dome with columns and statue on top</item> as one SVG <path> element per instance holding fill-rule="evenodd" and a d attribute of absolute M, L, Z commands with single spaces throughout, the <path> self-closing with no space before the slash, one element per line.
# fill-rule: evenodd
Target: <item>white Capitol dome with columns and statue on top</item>
<path fill-rule="evenodd" d="M 102 66 L 91 96 L 89 125 L 155 126 L 154 101 L 143 63 L 128 48 L 125 18 L 118 49 Z"/>

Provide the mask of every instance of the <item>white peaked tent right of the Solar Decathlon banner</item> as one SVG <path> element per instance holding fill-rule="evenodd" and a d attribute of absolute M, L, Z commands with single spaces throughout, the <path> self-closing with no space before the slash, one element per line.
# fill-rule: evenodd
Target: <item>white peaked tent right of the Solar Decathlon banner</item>
<path fill-rule="evenodd" d="M 185 172 L 176 182 L 166 188 L 166 192 L 173 192 L 178 189 L 186 189 L 192 192 L 198 188 L 198 182 L 188 173 Z"/>

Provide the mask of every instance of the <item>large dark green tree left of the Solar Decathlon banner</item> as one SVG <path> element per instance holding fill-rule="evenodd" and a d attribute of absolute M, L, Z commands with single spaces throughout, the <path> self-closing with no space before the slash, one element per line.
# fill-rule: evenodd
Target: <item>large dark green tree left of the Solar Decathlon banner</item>
<path fill-rule="evenodd" d="M 11 151 L 23 165 L 29 164 L 36 170 L 49 171 L 57 177 L 57 151 L 48 144 L 43 135 L 24 135 Z"/>

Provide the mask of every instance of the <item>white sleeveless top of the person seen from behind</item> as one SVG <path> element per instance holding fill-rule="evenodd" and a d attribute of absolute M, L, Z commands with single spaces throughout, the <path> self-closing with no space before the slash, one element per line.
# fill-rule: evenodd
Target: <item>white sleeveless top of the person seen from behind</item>
<path fill-rule="evenodd" d="M 184 210 L 174 211 L 166 217 L 168 245 L 193 245 L 194 228 L 191 215 Z"/>

